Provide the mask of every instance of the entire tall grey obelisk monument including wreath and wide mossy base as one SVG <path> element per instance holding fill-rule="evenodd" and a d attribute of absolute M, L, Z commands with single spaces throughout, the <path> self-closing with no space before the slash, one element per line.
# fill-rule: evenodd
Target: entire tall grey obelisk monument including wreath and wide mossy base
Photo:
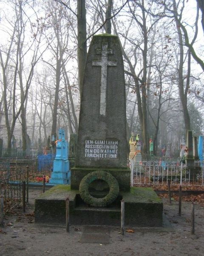
<path fill-rule="evenodd" d="M 153 189 L 130 189 L 126 138 L 125 77 L 119 38 L 94 35 L 85 65 L 71 187 L 55 186 L 37 198 L 35 221 L 65 222 L 68 197 L 72 224 L 118 226 L 123 199 L 125 225 L 161 226 L 163 204 Z"/>

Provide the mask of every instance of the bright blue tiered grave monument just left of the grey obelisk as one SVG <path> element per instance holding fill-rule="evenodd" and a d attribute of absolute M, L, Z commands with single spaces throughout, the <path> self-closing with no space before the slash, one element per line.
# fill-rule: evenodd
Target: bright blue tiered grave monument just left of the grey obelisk
<path fill-rule="evenodd" d="M 50 184 L 70 184 L 68 148 L 68 142 L 65 140 L 65 130 L 59 129 L 59 140 L 56 144 L 56 157 L 49 180 Z"/>

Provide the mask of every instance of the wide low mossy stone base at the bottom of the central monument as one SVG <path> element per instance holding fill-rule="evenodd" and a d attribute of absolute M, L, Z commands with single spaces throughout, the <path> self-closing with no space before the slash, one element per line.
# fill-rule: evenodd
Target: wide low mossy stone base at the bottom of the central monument
<path fill-rule="evenodd" d="M 69 198 L 70 224 L 108 225 L 121 224 L 120 200 L 125 201 L 125 226 L 161 227 L 163 203 L 151 188 L 130 188 L 120 192 L 108 207 L 90 207 L 85 204 L 78 190 L 70 185 L 57 185 L 35 200 L 35 223 L 65 224 L 65 199 Z"/>

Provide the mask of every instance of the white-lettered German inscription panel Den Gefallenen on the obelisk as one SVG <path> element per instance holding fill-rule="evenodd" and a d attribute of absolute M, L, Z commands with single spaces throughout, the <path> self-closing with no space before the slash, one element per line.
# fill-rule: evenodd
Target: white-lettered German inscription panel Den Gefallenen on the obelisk
<path fill-rule="evenodd" d="M 85 140 L 85 157 L 117 158 L 118 140 Z"/>

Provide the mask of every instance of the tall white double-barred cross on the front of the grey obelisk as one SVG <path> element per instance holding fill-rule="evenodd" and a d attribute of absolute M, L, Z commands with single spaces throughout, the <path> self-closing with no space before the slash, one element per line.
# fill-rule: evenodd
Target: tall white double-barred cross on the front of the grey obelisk
<path fill-rule="evenodd" d="M 101 61 L 92 61 L 92 66 L 101 67 L 101 96 L 100 114 L 105 116 L 106 111 L 106 89 L 107 89 L 107 67 L 116 67 L 116 61 L 108 61 L 108 54 L 113 54 L 112 49 L 108 49 L 108 44 L 102 44 Z"/>

